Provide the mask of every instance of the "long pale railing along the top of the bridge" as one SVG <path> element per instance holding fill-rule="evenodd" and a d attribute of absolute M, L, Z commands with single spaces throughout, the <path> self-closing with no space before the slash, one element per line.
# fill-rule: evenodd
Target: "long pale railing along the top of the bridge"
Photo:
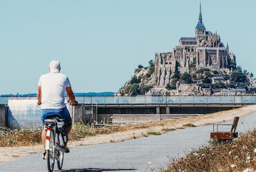
<path fill-rule="evenodd" d="M 98 105 L 249 105 L 256 96 L 76 96 L 79 103 Z"/>

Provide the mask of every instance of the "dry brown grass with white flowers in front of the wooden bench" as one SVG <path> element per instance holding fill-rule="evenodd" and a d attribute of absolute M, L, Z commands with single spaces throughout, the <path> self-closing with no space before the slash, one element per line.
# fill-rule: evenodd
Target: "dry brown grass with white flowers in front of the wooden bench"
<path fill-rule="evenodd" d="M 171 158 L 166 171 L 243 171 L 256 170 L 256 129 L 241 133 L 233 142 L 211 140 L 209 146 Z"/>

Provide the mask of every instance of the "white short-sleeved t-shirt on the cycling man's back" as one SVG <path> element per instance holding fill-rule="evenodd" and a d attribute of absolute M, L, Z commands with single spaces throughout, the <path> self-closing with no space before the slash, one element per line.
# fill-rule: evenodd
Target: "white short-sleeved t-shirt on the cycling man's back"
<path fill-rule="evenodd" d="M 65 105 L 66 87 L 71 87 L 64 74 L 50 72 L 40 76 L 38 86 L 42 89 L 41 109 L 61 109 Z"/>

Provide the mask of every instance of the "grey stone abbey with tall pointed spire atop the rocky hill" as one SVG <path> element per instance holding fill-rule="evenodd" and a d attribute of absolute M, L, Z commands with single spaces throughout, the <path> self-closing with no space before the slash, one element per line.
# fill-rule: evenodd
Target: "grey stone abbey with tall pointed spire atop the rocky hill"
<path fill-rule="evenodd" d="M 194 37 L 181 37 L 179 45 L 172 52 L 156 53 L 155 74 L 157 86 L 165 87 L 170 84 L 171 76 L 176 69 L 181 74 L 190 72 L 190 64 L 193 62 L 196 68 L 208 68 L 211 70 L 226 70 L 230 60 L 235 61 L 235 54 L 229 52 L 228 44 L 221 43 L 217 32 L 205 30 L 203 25 L 201 4 L 199 21 L 195 28 Z"/>

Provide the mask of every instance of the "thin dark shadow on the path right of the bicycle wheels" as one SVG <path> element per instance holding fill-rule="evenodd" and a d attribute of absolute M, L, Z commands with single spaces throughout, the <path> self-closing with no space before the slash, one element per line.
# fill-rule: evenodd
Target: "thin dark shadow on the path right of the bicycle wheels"
<path fill-rule="evenodd" d="M 136 171 L 137 169 L 64 169 L 59 172 L 103 172 L 103 171 Z"/>

